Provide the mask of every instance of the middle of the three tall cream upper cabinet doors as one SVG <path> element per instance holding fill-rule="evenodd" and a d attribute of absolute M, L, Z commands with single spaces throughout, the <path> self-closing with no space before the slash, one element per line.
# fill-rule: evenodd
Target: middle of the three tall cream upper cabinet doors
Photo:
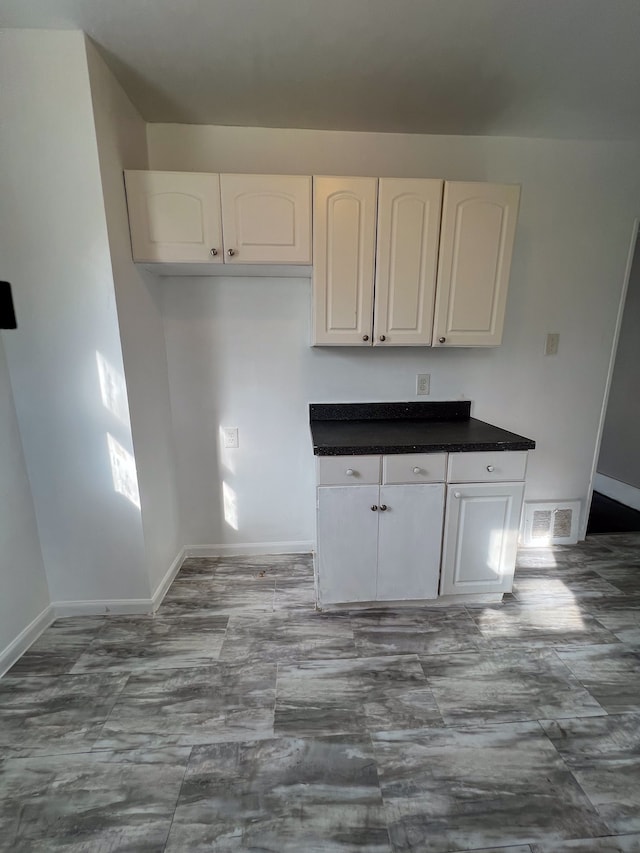
<path fill-rule="evenodd" d="M 442 181 L 380 178 L 374 346 L 431 343 Z"/>

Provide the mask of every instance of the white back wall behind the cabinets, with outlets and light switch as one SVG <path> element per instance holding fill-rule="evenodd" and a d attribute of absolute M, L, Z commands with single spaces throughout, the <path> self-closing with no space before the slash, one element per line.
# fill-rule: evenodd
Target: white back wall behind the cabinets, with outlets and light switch
<path fill-rule="evenodd" d="M 504 342 L 496 349 L 312 349 L 308 281 L 163 282 L 187 544 L 313 539 L 307 404 L 415 399 L 418 370 L 431 373 L 431 399 L 468 397 L 475 417 L 536 440 L 528 500 L 586 499 L 640 213 L 637 147 L 161 124 L 147 135 L 153 169 L 522 184 Z M 543 355 L 547 332 L 560 333 L 555 357 Z M 220 425 L 240 427 L 240 448 L 224 459 Z M 237 531 L 224 520 L 225 478 L 236 496 Z"/>

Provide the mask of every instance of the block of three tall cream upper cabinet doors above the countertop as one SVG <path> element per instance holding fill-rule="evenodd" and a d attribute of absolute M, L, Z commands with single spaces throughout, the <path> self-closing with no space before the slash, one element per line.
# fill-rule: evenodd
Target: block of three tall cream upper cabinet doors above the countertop
<path fill-rule="evenodd" d="M 439 180 L 314 178 L 313 343 L 498 345 L 519 197 L 515 185 L 446 182 L 443 201 Z"/>

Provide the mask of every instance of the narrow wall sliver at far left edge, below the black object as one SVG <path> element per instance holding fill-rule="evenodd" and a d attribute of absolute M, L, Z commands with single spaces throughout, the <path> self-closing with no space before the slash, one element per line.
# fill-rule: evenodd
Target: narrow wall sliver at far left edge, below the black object
<path fill-rule="evenodd" d="M 3 651 L 49 606 L 36 516 L 0 334 L 0 674 Z M 22 651 L 20 649 L 19 651 Z M 9 665 L 12 660 L 7 660 Z"/>

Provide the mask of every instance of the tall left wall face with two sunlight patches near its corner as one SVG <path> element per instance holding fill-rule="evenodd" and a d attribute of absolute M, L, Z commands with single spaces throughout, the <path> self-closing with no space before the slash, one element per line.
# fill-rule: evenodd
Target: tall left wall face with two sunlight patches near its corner
<path fill-rule="evenodd" d="M 96 361 L 123 376 L 84 37 L 0 43 L 0 258 L 19 322 L 5 346 L 51 596 L 148 598 L 140 510 L 107 444 L 132 453 L 126 389 L 109 410 Z"/>

